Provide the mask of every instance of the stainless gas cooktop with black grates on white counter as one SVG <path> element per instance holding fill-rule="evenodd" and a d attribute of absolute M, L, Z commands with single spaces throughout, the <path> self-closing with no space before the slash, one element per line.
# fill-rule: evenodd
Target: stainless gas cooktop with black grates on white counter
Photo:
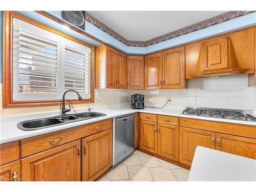
<path fill-rule="evenodd" d="M 252 116 L 251 110 L 230 110 L 230 109 L 218 109 L 218 108 L 196 108 L 186 106 L 186 109 L 182 112 L 185 115 L 196 115 L 203 117 L 215 117 L 223 119 L 234 119 L 242 121 L 256 121 L 256 117 Z"/>

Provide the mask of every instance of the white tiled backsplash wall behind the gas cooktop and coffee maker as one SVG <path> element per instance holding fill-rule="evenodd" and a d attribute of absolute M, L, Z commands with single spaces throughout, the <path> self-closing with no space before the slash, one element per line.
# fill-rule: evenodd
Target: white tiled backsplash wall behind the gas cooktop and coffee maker
<path fill-rule="evenodd" d="M 162 105 L 172 97 L 169 105 L 256 109 L 256 88 L 248 87 L 247 74 L 189 79 L 187 89 L 131 91 L 135 93 L 145 95 L 147 106 Z"/>

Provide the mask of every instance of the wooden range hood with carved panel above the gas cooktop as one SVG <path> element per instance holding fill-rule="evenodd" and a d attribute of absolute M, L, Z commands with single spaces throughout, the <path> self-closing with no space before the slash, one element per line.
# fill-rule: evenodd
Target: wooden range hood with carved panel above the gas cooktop
<path fill-rule="evenodd" d="M 249 69 L 238 65 L 229 36 L 218 37 L 201 44 L 195 73 L 190 77 L 207 77 L 245 73 Z"/>

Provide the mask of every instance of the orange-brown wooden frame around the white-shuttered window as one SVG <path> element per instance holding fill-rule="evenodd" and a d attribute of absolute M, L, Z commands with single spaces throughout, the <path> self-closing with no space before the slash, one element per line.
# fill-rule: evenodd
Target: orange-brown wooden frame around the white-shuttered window
<path fill-rule="evenodd" d="M 15 107 L 27 107 L 27 106 L 42 106 L 42 105 L 59 105 L 61 100 L 38 100 L 38 101 L 13 101 L 12 98 L 12 23 L 13 18 L 24 20 L 24 22 L 30 23 L 47 31 L 53 32 L 57 35 L 75 41 L 81 45 L 87 46 L 91 49 L 91 79 L 90 79 L 90 91 L 91 98 L 79 100 L 67 100 L 67 104 L 75 103 L 88 103 L 94 102 L 94 46 L 87 44 L 75 37 L 72 37 L 66 33 L 60 32 L 56 29 L 48 27 L 44 24 L 36 22 L 33 19 L 20 15 L 14 11 L 4 11 L 3 17 L 3 108 L 15 108 Z"/>

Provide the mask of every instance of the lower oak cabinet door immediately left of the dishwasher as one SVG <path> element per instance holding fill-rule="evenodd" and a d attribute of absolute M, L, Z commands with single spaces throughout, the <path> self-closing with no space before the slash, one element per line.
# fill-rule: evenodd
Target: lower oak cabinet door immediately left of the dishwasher
<path fill-rule="evenodd" d="M 94 181 L 112 166 L 112 129 L 82 139 L 82 181 Z"/>

